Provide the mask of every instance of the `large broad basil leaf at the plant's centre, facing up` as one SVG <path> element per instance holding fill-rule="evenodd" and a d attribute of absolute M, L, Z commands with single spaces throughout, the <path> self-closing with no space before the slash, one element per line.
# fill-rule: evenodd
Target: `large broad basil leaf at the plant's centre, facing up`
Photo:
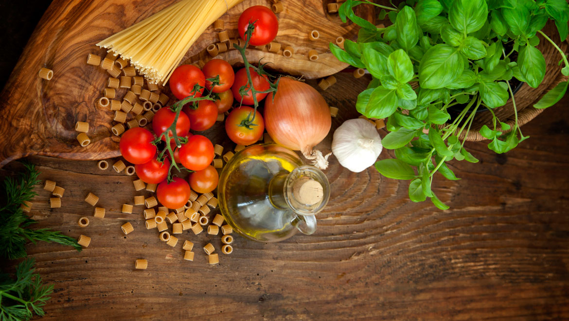
<path fill-rule="evenodd" d="M 459 50 L 438 44 L 425 52 L 419 65 L 419 84 L 423 88 L 438 89 L 450 85 L 464 69 Z"/>

